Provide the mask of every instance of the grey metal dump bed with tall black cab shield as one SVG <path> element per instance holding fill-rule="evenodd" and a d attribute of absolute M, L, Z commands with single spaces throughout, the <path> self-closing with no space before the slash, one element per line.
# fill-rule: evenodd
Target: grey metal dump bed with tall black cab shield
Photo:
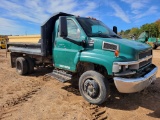
<path fill-rule="evenodd" d="M 51 56 L 52 55 L 52 33 L 55 27 L 55 22 L 59 16 L 72 16 L 67 13 L 56 13 L 51 16 L 41 26 L 41 39 L 39 43 L 19 43 L 9 42 L 7 43 L 7 49 L 10 52 L 26 53 L 32 55 Z"/>

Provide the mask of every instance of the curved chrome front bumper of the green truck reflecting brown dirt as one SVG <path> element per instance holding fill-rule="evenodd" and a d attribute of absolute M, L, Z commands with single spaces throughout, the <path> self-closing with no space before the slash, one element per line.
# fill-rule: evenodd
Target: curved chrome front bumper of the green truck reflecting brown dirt
<path fill-rule="evenodd" d="M 151 72 L 140 78 L 122 78 L 114 77 L 116 88 L 121 93 L 134 93 L 148 87 L 154 80 L 156 80 L 156 73 L 158 68 L 155 67 Z"/>

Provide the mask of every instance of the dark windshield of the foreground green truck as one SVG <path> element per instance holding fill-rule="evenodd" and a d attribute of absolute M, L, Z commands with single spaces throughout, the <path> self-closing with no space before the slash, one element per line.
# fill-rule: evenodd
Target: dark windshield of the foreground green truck
<path fill-rule="evenodd" d="M 99 20 L 90 18 L 77 18 L 77 20 L 89 37 L 121 38 Z"/>

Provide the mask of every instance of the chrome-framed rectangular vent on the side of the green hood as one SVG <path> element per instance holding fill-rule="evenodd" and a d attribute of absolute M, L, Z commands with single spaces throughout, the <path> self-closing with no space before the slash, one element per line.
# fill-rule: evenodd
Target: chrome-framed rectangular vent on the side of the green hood
<path fill-rule="evenodd" d="M 102 49 L 116 51 L 118 50 L 118 45 L 113 43 L 103 42 Z"/>

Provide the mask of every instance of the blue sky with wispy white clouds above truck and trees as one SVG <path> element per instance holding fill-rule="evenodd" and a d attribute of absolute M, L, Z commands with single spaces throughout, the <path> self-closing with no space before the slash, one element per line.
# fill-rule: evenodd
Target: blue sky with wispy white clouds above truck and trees
<path fill-rule="evenodd" d="M 118 31 L 160 19 L 160 0 L 0 0 L 0 34 L 40 34 L 55 12 L 92 16 Z"/>

